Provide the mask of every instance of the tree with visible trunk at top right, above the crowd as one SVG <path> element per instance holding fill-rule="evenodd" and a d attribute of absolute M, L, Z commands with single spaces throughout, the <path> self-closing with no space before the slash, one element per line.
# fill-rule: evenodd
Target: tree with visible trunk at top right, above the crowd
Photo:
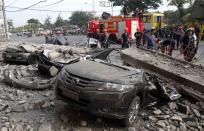
<path fill-rule="evenodd" d="M 170 3 L 169 5 L 176 6 L 179 12 L 179 21 L 183 23 L 183 17 L 185 16 L 185 4 L 192 5 L 194 0 L 168 0 Z"/>

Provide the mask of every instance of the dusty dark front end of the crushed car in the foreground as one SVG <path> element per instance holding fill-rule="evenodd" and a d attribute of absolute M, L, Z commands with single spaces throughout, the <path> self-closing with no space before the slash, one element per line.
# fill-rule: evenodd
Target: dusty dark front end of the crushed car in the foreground
<path fill-rule="evenodd" d="M 132 125 L 145 100 L 147 82 L 142 70 L 105 62 L 80 61 L 58 75 L 58 99 L 72 107 Z"/>

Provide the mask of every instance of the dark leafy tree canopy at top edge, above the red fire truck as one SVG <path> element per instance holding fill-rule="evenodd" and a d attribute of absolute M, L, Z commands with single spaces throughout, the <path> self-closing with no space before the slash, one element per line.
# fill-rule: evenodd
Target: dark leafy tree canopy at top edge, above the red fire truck
<path fill-rule="evenodd" d="M 135 8 L 147 10 L 147 9 L 157 9 L 162 3 L 162 0 L 109 0 L 113 2 L 114 6 L 127 7 L 131 11 Z"/>

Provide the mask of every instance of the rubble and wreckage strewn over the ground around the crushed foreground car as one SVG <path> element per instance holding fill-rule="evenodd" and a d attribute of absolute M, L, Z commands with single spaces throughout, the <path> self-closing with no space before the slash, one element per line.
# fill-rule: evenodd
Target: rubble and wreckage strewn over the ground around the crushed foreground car
<path fill-rule="evenodd" d="M 23 48 L 17 48 L 20 46 Z M 6 45 L 3 50 L 5 51 L 7 47 L 8 45 Z M 56 72 L 58 72 L 64 64 L 69 64 L 70 62 L 78 60 L 78 58 L 84 58 L 87 54 L 91 54 L 90 57 L 93 58 L 103 59 L 107 57 L 106 55 L 109 54 L 108 52 L 110 50 L 105 52 L 104 55 L 104 52 L 101 53 L 96 51 L 96 53 L 90 53 L 83 48 L 56 45 L 11 45 L 11 48 L 9 49 L 10 52 L 13 51 L 13 48 L 15 48 L 15 50 L 16 48 L 18 50 L 20 49 L 20 51 L 17 50 L 17 53 L 22 53 L 23 51 L 22 54 L 28 53 L 29 55 L 33 55 L 34 53 L 35 56 L 37 54 L 37 62 L 36 59 L 32 59 L 32 62 L 34 63 L 32 65 L 26 65 L 29 63 L 26 63 L 25 65 L 7 65 L 1 63 L 0 80 L 10 85 L 10 87 L 8 88 L 8 86 L 0 83 L 0 129 L 2 131 L 73 130 L 75 128 L 72 128 L 72 125 L 67 123 L 71 123 L 77 119 L 75 122 L 77 123 L 76 125 L 78 125 L 76 130 L 95 131 L 94 127 L 89 127 L 91 125 L 89 119 L 92 119 L 90 117 L 85 119 L 80 118 L 80 114 L 73 115 L 72 112 L 70 114 L 72 114 L 73 117 L 69 117 L 69 115 L 62 116 L 61 112 L 56 112 L 58 105 L 55 105 L 54 89 L 51 85 L 52 82 L 54 82 L 55 75 L 57 74 Z M 28 57 L 22 58 L 28 59 Z M 49 64 L 45 64 L 47 62 Z M 10 63 L 10 61 L 6 61 L 6 63 Z M 47 68 L 47 66 L 49 68 Z M 43 71 L 49 72 L 49 75 L 47 76 L 47 73 Z M 204 130 L 203 103 L 196 102 L 188 97 L 186 98 L 183 94 L 180 94 L 180 92 L 178 93 L 176 90 L 179 89 L 179 87 L 184 88 L 183 85 L 177 86 L 175 82 L 174 84 L 171 84 L 171 81 L 165 81 L 150 73 L 148 75 L 150 81 L 149 84 L 151 85 L 150 95 L 156 98 L 156 101 L 149 101 L 148 107 L 141 111 L 140 117 L 142 119 L 140 120 L 140 118 L 138 118 L 139 120 L 136 121 L 136 124 L 141 122 L 141 125 L 139 127 L 129 127 L 128 129 L 146 129 L 152 131 Z M 161 94 L 165 96 L 162 96 Z M 42 111 L 39 111 L 38 109 L 41 109 Z M 67 111 L 67 109 L 65 110 Z M 50 115 L 52 118 L 47 120 L 47 113 L 55 114 L 55 117 L 57 116 L 60 118 L 58 120 Z M 21 114 L 21 117 L 18 116 L 19 114 Z M 68 113 L 66 112 L 66 114 Z M 55 119 L 55 121 L 53 122 L 52 119 Z M 94 120 L 92 121 L 94 122 Z M 115 130 L 112 125 L 108 125 L 109 122 L 106 122 L 106 120 L 102 118 L 98 119 L 96 123 L 97 122 L 98 125 L 102 126 L 103 130 Z M 54 125 L 56 123 L 59 125 Z M 79 127 L 79 125 L 81 127 Z M 124 130 L 124 128 L 121 127 L 116 128 L 118 131 Z"/>

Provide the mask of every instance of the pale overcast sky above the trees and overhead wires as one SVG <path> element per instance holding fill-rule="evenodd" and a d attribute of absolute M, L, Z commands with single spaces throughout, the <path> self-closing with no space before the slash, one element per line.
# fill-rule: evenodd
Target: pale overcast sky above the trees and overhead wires
<path fill-rule="evenodd" d="M 25 8 L 32 4 L 35 4 L 42 0 L 5 0 L 5 5 L 10 5 L 11 7 L 20 7 Z M 93 1 L 95 5 L 96 15 L 100 16 L 103 11 L 108 11 L 111 13 L 111 7 L 100 7 L 100 1 L 108 1 L 108 0 L 64 0 L 61 3 L 58 3 L 53 6 L 46 6 L 52 3 L 55 3 L 60 0 L 47 0 L 47 2 L 40 3 L 32 9 L 43 9 L 43 10 L 55 10 L 55 11 L 68 11 L 68 12 L 45 12 L 45 11 L 31 11 L 25 10 L 21 12 L 6 12 L 7 19 L 12 19 L 15 26 L 21 26 L 26 23 L 26 21 L 30 18 L 35 18 L 40 20 L 40 22 L 44 22 L 47 16 L 52 18 L 52 22 L 55 21 L 56 17 L 60 13 L 60 15 L 64 19 L 68 19 L 71 16 L 72 11 L 93 11 Z M 163 0 L 163 4 L 157 10 L 165 11 L 165 10 L 174 10 L 175 7 L 167 6 L 168 3 L 166 0 Z M 39 7 L 40 6 L 40 7 Z M 6 7 L 8 11 L 15 11 L 18 9 Z M 114 15 L 118 15 L 120 13 L 121 7 L 114 7 Z"/>

